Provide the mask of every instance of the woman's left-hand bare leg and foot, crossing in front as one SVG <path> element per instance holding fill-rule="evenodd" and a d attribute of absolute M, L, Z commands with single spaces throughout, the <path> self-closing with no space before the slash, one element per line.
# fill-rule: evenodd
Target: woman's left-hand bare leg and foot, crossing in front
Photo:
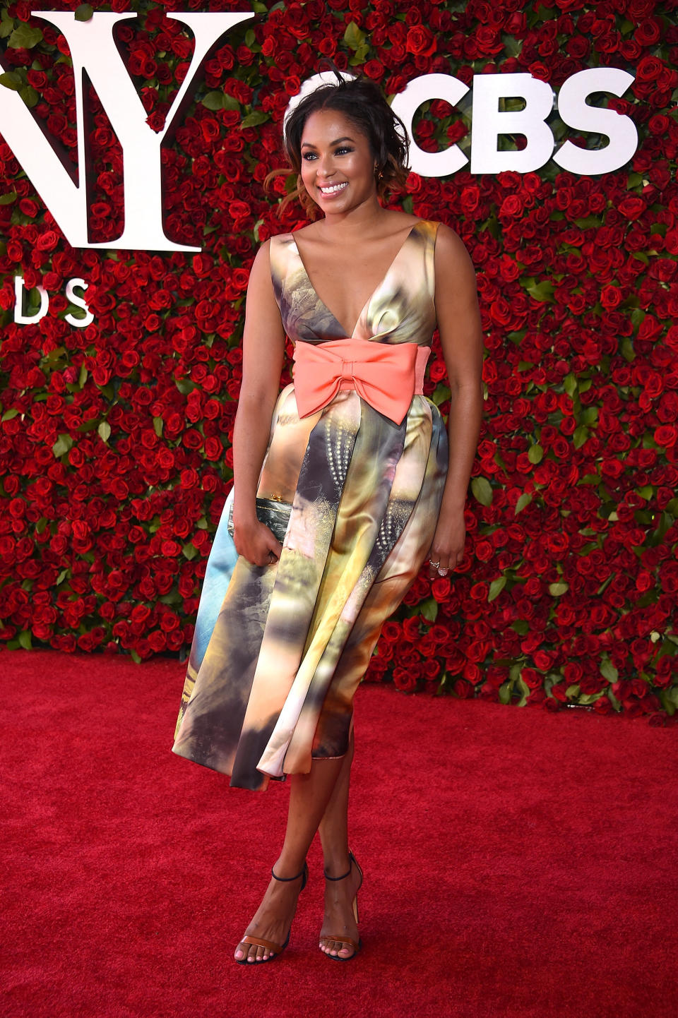
<path fill-rule="evenodd" d="M 344 759 L 316 759 L 308 774 L 290 775 L 285 841 L 273 867 L 277 876 L 295 876 L 303 868 L 306 853 L 332 797 Z M 300 888 L 300 879 L 287 884 L 271 878 L 245 936 L 284 944 L 294 918 Z M 267 948 L 240 942 L 235 949 L 235 958 L 239 961 L 246 957 L 253 964 L 256 959 L 266 959 L 271 953 Z"/>

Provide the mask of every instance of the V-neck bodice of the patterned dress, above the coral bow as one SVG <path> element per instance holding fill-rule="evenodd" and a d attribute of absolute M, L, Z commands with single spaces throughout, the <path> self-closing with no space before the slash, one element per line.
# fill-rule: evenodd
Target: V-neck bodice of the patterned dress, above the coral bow
<path fill-rule="evenodd" d="M 271 277 L 285 332 L 292 342 L 370 339 L 428 346 L 436 328 L 435 245 L 438 223 L 410 229 L 381 283 L 368 298 L 351 336 L 316 291 L 293 233 L 271 238 Z"/>

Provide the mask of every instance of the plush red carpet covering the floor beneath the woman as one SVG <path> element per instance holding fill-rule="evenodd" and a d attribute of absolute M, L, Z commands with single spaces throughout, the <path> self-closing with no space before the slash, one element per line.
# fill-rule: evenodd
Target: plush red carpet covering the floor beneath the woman
<path fill-rule="evenodd" d="M 362 954 L 231 961 L 287 790 L 170 752 L 183 669 L 4 652 L 0 1013 L 50 1018 L 675 1018 L 676 727 L 405 697 L 356 709 Z"/>

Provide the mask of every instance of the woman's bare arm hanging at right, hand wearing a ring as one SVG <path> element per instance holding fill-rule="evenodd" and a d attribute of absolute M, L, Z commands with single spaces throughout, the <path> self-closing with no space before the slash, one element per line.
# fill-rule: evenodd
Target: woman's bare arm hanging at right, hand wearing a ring
<path fill-rule="evenodd" d="M 483 328 L 475 272 L 460 237 L 441 223 L 436 238 L 436 313 L 450 382 L 450 459 L 430 559 L 454 569 L 464 553 L 464 502 L 483 416 Z M 433 566 L 431 575 L 438 575 Z"/>

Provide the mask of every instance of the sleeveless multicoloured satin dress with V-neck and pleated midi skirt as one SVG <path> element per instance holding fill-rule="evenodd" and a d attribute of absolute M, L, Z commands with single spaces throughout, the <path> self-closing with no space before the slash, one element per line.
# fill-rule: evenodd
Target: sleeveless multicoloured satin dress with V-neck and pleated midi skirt
<path fill-rule="evenodd" d="M 440 411 L 420 393 L 437 324 L 437 229 L 412 226 L 351 337 L 316 293 L 294 235 L 271 238 L 274 292 L 295 358 L 333 358 L 343 343 L 380 360 L 364 384 L 352 381 L 361 363 L 340 361 L 338 382 L 312 412 L 297 406 L 296 367 L 280 393 L 258 490 L 292 504 L 278 562 L 255 566 L 237 555 L 226 525 L 232 493 L 224 506 L 172 749 L 230 775 L 233 786 L 264 789 L 270 778 L 307 773 L 313 758 L 344 755 L 381 628 L 431 547 L 448 463 Z M 399 421 L 387 412 L 401 386 L 389 382 L 383 356 L 420 376 Z M 377 409 L 371 393 L 380 382 Z"/>

